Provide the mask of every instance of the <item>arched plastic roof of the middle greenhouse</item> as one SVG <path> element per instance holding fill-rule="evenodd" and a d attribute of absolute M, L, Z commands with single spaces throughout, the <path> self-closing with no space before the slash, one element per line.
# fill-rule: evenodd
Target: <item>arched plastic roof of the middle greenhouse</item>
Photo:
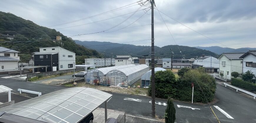
<path fill-rule="evenodd" d="M 149 66 L 147 66 L 146 64 L 140 64 L 140 65 L 130 66 L 130 67 L 121 68 L 117 70 L 123 72 L 126 76 L 128 76 L 130 74 L 133 74 L 137 71 L 140 71 L 146 68 L 149 68 Z"/>

